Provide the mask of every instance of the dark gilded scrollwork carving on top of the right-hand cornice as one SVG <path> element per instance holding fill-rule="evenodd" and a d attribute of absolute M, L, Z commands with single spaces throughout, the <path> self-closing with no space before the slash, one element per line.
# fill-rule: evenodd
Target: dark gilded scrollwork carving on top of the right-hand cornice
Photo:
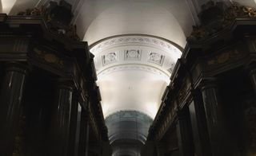
<path fill-rule="evenodd" d="M 230 25 L 235 18 L 256 18 L 256 10 L 252 7 L 241 6 L 237 2 L 227 7 L 223 2 L 210 1 L 203 5 L 199 17 L 202 25 L 193 26 L 193 31 L 187 38 L 188 41 L 210 37 Z"/>

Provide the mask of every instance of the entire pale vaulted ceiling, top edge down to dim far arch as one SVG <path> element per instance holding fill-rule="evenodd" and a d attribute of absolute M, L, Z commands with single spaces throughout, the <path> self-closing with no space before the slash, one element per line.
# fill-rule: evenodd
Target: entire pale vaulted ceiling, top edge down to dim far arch
<path fill-rule="evenodd" d="M 49 1 L 0 0 L 0 11 L 14 15 Z M 73 23 L 77 25 L 78 36 L 88 42 L 95 55 L 105 115 L 122 109 L 137 109 L 154 118 L 162 92 L 169 84 L 171 68 L 186 46 L 192 25 L 199 23 L 202 4 L 208 1 L 66 0 L 73 6 Z M 222 1 L 256 6 L 255 0 Z M 111 45 L 111 41 L 114 44 Z M 102 44 L 109 45 L 98 49 Z M 126 58 L 134 55 L 139 59 Z M 110 100 L 111 97 L 115 100 Z"/>

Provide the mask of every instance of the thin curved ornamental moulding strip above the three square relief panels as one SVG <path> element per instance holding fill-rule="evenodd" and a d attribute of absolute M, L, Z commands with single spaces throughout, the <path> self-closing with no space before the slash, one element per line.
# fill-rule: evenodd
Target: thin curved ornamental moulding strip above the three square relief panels
<path fill-rule="evenodd" d="M 98 45 L 95 45 L 90 49 L 90 52 L 98 53 L 98 52 L 101 52 L 102 50 L 112 48 L 113 46 L 120 46 L 120 45 L 149 45 L 149 46 L 157 47 L 158 49 L 163 49 L 166 52 L 180 54 L 180 50 L 174 45 L 171 45 L 167 41 L 163 41 L 154 37 L 142 37 L 142 36 L 126 36 L 126 37 L 111 38 L 106 41 L 102 41 Z"/>

